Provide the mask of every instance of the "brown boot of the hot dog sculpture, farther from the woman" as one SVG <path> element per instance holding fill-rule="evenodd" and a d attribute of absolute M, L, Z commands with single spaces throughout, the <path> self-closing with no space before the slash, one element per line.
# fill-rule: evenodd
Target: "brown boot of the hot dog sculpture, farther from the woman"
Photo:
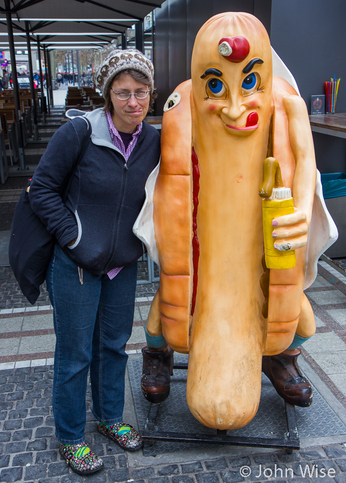
<path fill-rule="evenodd" d="M 300 349 L 284 350 L 262 357 L 262 372 L 273 384 L 277 394 L 294 406 L 307 408 L 312 403 L 312 387 L 297 364 Z"/>

